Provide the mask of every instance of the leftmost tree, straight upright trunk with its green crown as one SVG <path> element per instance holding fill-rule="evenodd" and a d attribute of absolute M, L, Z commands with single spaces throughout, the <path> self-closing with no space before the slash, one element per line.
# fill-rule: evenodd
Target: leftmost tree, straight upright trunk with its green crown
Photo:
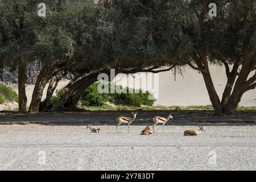
<path fill-rule="evenodd" d="M 5 65 L 18 67 L 19 113 L 26 112 L 26 64 L 32 60 L 36 6 L 32 1 L 0 1 L 1 56 Z M 32 8 L 31 8 L 32 7 Z M 33 9 L 33 7 L 35 7 Z M 35 10 L 35 11 L 34 11 Z"/>

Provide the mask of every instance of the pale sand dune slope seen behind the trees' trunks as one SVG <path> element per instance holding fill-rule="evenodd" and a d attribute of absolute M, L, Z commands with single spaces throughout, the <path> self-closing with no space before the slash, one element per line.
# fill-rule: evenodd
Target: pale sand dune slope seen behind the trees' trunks
<path fill-rule="evenodd" d="M 216 91 L 221 98 L 226 85 L 225 69 L 217 66 L 210 66 L 213 83 Z M 144 73 L 142 73 L 144 74 Z M 119 80 L 119 78 L 117 79 Z M 133 77 L 129 76 L 129 81 Z M 127 85 L 126 80 L 119 81 L 122 85 Z M 192 68 L 185 68 L 183 76 L 176 75 L 176 81 L 173 73 L 159 73 L 159 97 L 155 105 L 162 106 L 193 106 L 210 105 L 209 95 L 203 76 Z M 240 102 L 242 106 L 256 106 L 256 90 L 246 92 Z"/>

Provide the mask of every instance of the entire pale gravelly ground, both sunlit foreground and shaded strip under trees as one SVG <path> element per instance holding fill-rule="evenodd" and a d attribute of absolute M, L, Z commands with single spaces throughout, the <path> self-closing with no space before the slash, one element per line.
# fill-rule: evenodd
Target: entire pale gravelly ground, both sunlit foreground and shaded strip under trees
<path fill-rule="evenodd" d="M 121 134 L 115 118 L 130 111 L 3 114 L 0 170 L 256 170 L 256 113 L 242 113 L 220 118 L 213 111 L 173 111 L 165 133 L 157 126 L 151 136 L 140 135 L 146 123 L 168 111 L 139 111 L 131 133 L 121 125 Z M 183 136 L 200 121 L 205 132 Z M 88 123 L 101 132 L 90 133 Z"/>

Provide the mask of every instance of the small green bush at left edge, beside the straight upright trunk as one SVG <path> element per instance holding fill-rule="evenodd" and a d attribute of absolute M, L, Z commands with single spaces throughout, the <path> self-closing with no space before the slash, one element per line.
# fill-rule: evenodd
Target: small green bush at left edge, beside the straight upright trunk
<path fill-rule="evenodd" d="M 0 84 L 0 104 L 6 101 L 18 102 L 18 94 L 5 84 Z"/>

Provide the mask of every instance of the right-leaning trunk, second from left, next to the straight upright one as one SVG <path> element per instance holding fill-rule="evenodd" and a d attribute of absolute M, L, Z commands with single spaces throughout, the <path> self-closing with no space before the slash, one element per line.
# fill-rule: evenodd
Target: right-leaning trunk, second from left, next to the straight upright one
<path fill-rule="evenodd" d="M 30 109 L 28 110 L 30 113 L 39 113 L 39 104 L 42 100 L 43 90 L 49 80 L 49 74 L 51 71 L 52 64 L 45 63 L 38 75 L 38 79 L 36 80 L 34 92 L 32 94 Z"/>

